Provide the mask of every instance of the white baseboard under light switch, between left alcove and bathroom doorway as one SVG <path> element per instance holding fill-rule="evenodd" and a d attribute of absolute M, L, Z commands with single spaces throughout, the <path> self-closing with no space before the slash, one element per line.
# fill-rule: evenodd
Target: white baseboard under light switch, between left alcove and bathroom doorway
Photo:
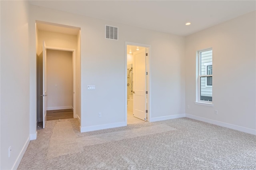
<path fill-rule="evenodd" d="M 119 122 L 119 123 L 111 123 L 111 124 L 105 124 L 105 125 L 96 125 L 96 126 L 90 126 L 90 127 L 81 127 L 80 125 L 80 132 L 90 132 L 94 130 L 102 130 L 106 128 L 115 128 L 115 127 L 124 127 L 127 126 L 125 122 Z"/>

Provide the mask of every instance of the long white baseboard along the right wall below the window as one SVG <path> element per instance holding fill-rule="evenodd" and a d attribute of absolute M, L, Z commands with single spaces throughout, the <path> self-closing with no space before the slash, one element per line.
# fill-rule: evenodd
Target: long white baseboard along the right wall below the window
<path fill-rule="evenodd" d="M 241 131 L 241 132 L 246 132 L 246 133 L 256 135 L 256 130 L 255 129 L 240 127 L 240 126 L 237 126 L 237 125 L 232 125 L 232 124 L 229 124 L 229 123 L 215 121 L 215 120 L 212 120 L 212 119 L 206 119 L 204 117 L 199 117 L 199 116 L 194 116 L 194 115 L 189 115 L 189 114 L 186 114 L 186 117 L 188 117 L 190 119 L 195 119 L 195 120 L 198 120 L 198 121 L 203 121 L 203 122 L 206 122 L 206 123 L 211 123 L 211 124 L 218 125 L 218 126 L 221 126 L 221 127 L 231 128 L 231 129 L 238 130 L 238 131 Z"/>

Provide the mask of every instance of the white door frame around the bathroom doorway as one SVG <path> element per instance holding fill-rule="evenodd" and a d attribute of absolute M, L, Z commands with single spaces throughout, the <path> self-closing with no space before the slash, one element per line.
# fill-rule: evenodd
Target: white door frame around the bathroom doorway
<path fill-rule="evenodd" d="M 151 57 L 151 45 L 142 44 L 142 43 L 134 43 L 134 42 L 125 42 L 125 123 L 127 125 L 127 45 L 133 45 L 133 46 L 140 46 L 140 47 L 146 47 L 148 48 L 148 58 L 147 58 L 147 68 L 148 68 L 148 81 L 147 81 L 147 89 L 148 89 L 148 97 L 147 97 L 147 103 L 148 103 L 148 114 L 147 114 L 147 121 L 150 122 L 151 119 L 151 74 L 150 74 L 150 57 Z"/>

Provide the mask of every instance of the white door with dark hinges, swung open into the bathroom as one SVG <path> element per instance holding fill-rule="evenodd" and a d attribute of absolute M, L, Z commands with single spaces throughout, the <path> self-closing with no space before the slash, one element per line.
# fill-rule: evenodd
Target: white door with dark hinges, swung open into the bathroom
<path fill-rule="evenodd" d="M 147 121 L 146 113 L 146 48 L 134 54 L 133 115 Z"/>

